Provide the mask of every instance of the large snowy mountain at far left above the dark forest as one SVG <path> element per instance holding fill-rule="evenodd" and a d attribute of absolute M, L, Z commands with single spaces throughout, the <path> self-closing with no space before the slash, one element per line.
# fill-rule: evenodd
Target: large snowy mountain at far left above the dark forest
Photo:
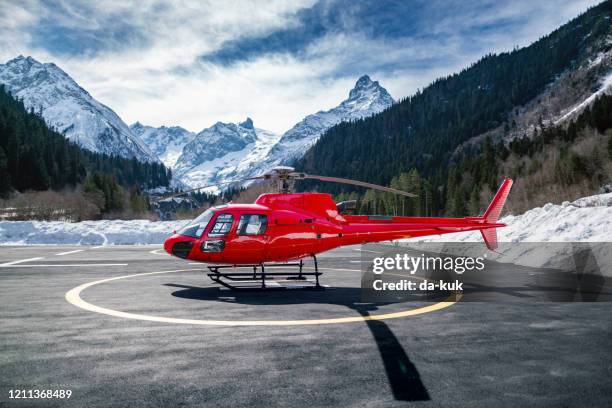
<path fill-rule="evenodd" d="M 53 63 L 19 56 L 0 64 L 0 83 L 50 127 L 85 149 L 157 161 L 115 112 L 95 100 Z"/>

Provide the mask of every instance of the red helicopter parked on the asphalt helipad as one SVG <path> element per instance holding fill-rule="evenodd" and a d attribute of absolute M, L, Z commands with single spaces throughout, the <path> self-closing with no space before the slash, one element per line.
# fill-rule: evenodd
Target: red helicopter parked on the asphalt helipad
<path fill-rule="evenodd" d="M 355 201 L 336 204 L 329 194 L 292 192 L 294 182 L 305 179 L 416 197 L 412 193 L 376 184 L 308 175 L 295 172 L 291 167 L 277 167 L 263 176 L 240 181 L 274 181 L 278 184 L 278 193 L 262 194 L 254 204 L 229 203 L 209 208 L 166 239 L 164 249 L 179 258 L 211 264 L 207 266 L 209 277 L 230 289 L 288 288 L 270 282 L 280 276 L 304 281 L 308 276 L 314 276 L 315 281 L 309 281 L 312 285 L 302 287 L 321 289 L 316 254 L 340 246 L 479 230 L 487 247 L 491 250 L 497 248 L 496 228 L 505 226 L 497 221 L 512 187 L 512 180 L 506 178 L 484 215 L 479 217 L 350 215 L 356 207 Z M 303 270 L 302 260 L 306 257 L 313 258 L 314 272 Z M 288 263 L 298 260 L 299 263 Z M 299 269 L 296 272 L 266 271 L 267 267 L 278 266 L 285 269 L 296 266 Z M 239 267 L 252 268 L 252 272 L 236 272 Z M 228 268 L 233 268 L 233 271 L 226 272 Z M 238 285 L 245 282 L 251 285 Z"/>

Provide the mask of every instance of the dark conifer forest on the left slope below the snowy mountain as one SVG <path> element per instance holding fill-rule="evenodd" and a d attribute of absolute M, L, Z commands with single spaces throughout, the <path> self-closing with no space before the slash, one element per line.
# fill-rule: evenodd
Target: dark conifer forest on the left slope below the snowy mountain
<path fill-rule="evenodd" d="M 103 177 L 131 188 L 168 186 L 170 170 L 161 163 L 84 150 L 49 129 L 34 112 L 0 85 L 0 196 L 11 191 L 60 190 Z M 104 184 L 104 183 L 102 183 Z"/>

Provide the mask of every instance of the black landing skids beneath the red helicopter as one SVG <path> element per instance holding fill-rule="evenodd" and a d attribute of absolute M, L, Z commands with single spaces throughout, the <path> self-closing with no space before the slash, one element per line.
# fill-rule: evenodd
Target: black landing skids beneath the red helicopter
<path fill-rule="evenodd" d="M 209 265 L 208 277 L 213 282 L 225 286 L 231 290 L 323 290 L 324 286 L 319 284 L 319 266 L 317 257 L 311 255 L 314 260 L 314 272 L 304 272 L 304 262 L 283 264 L 258 264 L 258 265 Z M 266 268 L 291 268 L 297 267 L 297 271 L 267 271 Z M 224 272 L 224 270 L 237 268 L 249 268 L 252 272 Z M 314 276 L 314 281 L 308 279 Z"/>

